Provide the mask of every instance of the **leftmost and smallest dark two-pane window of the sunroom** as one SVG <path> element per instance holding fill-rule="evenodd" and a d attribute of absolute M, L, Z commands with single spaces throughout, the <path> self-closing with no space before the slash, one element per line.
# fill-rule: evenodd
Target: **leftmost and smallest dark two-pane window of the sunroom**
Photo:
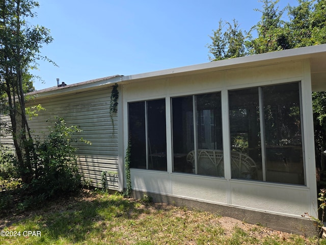
<path fill-rule="evenodd" d="M 165 100 L 128 104 L 130 167 L 167 170 Z"/>

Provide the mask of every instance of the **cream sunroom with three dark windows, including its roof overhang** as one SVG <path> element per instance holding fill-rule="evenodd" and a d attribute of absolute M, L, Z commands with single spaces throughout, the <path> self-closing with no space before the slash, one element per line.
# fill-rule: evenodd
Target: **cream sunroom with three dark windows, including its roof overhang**
<path fill-rule="evenodd" d="M 317 45 L 124 77 L 134 192 L 315 216 L 311 92 L 326 88 L 325 58 Z"/>

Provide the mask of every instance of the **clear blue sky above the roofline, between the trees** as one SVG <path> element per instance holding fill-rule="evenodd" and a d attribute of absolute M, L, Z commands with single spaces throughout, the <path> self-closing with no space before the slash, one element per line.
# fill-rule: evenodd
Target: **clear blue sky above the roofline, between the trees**
<path fill-rule="evenodd" d="M 220 19 L 249 30 L 261 17 L 258 0 L 39 0 L 32 23 L 48 28 L 53 42 L 32 73 L 37 90 L 209 62 L 209 38 Z M 280 0 L 278 6 L 297 5 Z"/>

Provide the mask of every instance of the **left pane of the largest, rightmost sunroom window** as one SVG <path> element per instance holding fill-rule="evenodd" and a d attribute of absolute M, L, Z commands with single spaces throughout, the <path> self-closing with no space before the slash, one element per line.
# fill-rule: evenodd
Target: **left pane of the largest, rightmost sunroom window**
<path fill-rule="evenodd" d="M 231 176 L 263 180 L 258 88 L 229 91 Z"/>

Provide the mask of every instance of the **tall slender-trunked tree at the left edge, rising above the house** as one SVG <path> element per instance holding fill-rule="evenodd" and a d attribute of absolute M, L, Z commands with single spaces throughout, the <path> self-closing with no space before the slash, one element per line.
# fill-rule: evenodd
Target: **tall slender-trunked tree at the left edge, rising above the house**
<path fill-rule="evenodd" d="M 32 135 L 25 113 L 25 92 L 33 89 L 29 69 L 38 59 L 43 44 L 52 41 L 49 30 L 31 26 L 26 19 L 35 17 L 39 7 L 32 0 L 0 0 L 0 82 L 10 115 L 13 141 L 22 179 L 29 182 L 33 167 L 29 162 Z M 4 113 L 4 112 L 3 112 Z"/>

